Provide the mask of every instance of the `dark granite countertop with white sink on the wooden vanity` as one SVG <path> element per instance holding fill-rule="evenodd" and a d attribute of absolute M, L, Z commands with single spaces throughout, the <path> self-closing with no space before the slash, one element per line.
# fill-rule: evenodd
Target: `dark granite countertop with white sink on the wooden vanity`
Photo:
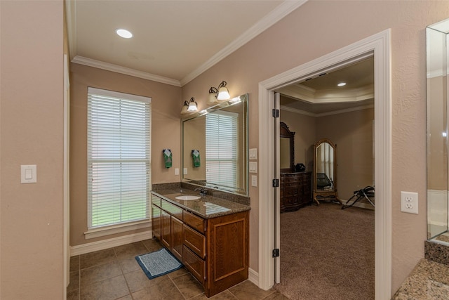
<path fill-rule="evenodd" d="M 187 209 L 187 211 L 201 216 L 203 219 L 211 219 L 217 216 L 225 216 L 227 214 L 235 214 L 236 212 L 248 211 L 251 209 L 248 205 L 239 204 L 229 200 L 224 200 L 210 195 L 201 196 L 199 200 L 177 200 L 178 196 L 194 195 L 199 196 L 193 190 L 183 190 L 182 193 L 176 190 L 158 190 L 152 191 L 152 194 L 161 197 L 168 202 L 177 204 Z"/>

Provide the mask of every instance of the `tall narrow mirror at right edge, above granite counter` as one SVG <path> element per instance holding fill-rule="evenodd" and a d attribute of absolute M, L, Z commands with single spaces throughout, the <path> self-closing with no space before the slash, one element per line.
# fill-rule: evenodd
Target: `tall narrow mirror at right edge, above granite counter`
<path fill-rule="evenodd" d="M 449 244 L 448 37 L 449 19 L 427 36 L 427 237 Z"/>

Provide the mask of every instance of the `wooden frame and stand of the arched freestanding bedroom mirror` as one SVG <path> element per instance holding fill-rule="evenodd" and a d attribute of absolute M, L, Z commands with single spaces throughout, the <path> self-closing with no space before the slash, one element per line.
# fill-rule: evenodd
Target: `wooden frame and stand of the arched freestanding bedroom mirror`
<path fill-rule="evenodd" d="M 333 189 L 332 190 L 319 190 L 318 188 L 316 188 L 316 150 L 317 148 L 322 145 L 323 143 L 328 143 L 330 145 L 330 147 L 333 148 L 333 162 L 334 162 L 334 166 L 333 166 Z M 340 198 L 338 197 L 337 194 L 337 145 L 334 144 L 332 141 L 330 141 L 328 138 L 322 138 L 321 140 L 319 140 L 318 142 L 316 142 L 314 144 L 314 178 L 313 178 L 313 185 L 314 185 L 314 202 L 319 205 L 320 201 L 337 201 L 340 202 L 340 204 L 342 204 L 342 201 L 340 200 Z"/>

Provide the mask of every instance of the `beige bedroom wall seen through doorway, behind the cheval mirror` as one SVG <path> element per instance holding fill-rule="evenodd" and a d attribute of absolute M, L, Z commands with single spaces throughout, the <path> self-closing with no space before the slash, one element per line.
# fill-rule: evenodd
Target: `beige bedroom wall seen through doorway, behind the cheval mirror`
<path fill-rule="evenodd" d="M 373 185 L 374 109 L 309 117 L 281 110 L 281 121 L 295 131 L 295 163 L 313 171 L 314 143 L 328 138 L 337 145 L 337 190 L 343 201 Z"/>

